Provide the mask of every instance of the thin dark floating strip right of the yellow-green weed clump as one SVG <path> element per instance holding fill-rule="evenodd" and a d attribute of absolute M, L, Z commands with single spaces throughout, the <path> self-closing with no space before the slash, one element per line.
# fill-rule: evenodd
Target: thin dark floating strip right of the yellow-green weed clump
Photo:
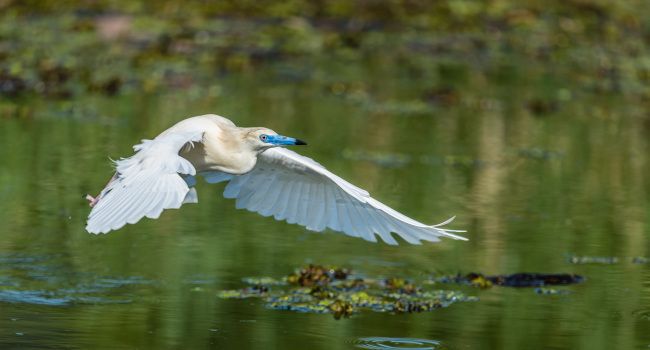
<path fill-rule="evenodd" d="M 503 287 L 542 287 L 581 283 L 584 281 L 584 277 L 568 273 L 515 273 L 512 275 L 484 276 L 483 274 L 472 272 L 464 276 L 442 277 L 437 281 L 442 283 L 461 283 L 479 288 L 489 288 L 492 285 Z"/>

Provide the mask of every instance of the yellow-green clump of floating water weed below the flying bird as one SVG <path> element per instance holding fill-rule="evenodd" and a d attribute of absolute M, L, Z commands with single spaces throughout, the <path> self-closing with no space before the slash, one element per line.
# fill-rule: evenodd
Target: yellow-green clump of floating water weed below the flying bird
<path fill-rule="evenodd" d="M 424 290 L 402 278 L 363 279 L 350 270 L 309 265 L 284 278 L 288 285 L 271 278 L 247 278 L 256 284 L 217 295 L 226 299 L 261 298 L 274 310 L 329 313 L 336 319 L 361 310 L 391 313 L 433 311 L 455 302 L 475 301 L 457 291 Z M 273 287 L 273 290 L 271 290 Z"/>

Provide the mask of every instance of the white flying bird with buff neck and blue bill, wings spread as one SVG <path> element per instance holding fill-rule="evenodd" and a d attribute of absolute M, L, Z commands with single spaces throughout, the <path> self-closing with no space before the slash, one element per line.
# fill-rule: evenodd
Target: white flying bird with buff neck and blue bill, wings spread
<path fill-rule="evenodd" d="M 113 178 L 97 197 L 87 196 L 92 210 L 86 230 L 107 233 L 144 216 L 157 219 L 164 209 L 197 203 L 195 176 L 208 183 L 228 181 L 224 197 L 276 220 L 329 228 L 376 242 L 375 235 L 397 244 L 396 233 L 409 243 L 439 237 L 466 240 L 442 228 L 453 220 L 425 225 L 370 197 L 310 158 L 279 146 L 305 145 L 267 128 L 241 128 L 207 114 L 180 121 L 153 140 L 133 146 L 136 152 L 115 162 Z"/>

